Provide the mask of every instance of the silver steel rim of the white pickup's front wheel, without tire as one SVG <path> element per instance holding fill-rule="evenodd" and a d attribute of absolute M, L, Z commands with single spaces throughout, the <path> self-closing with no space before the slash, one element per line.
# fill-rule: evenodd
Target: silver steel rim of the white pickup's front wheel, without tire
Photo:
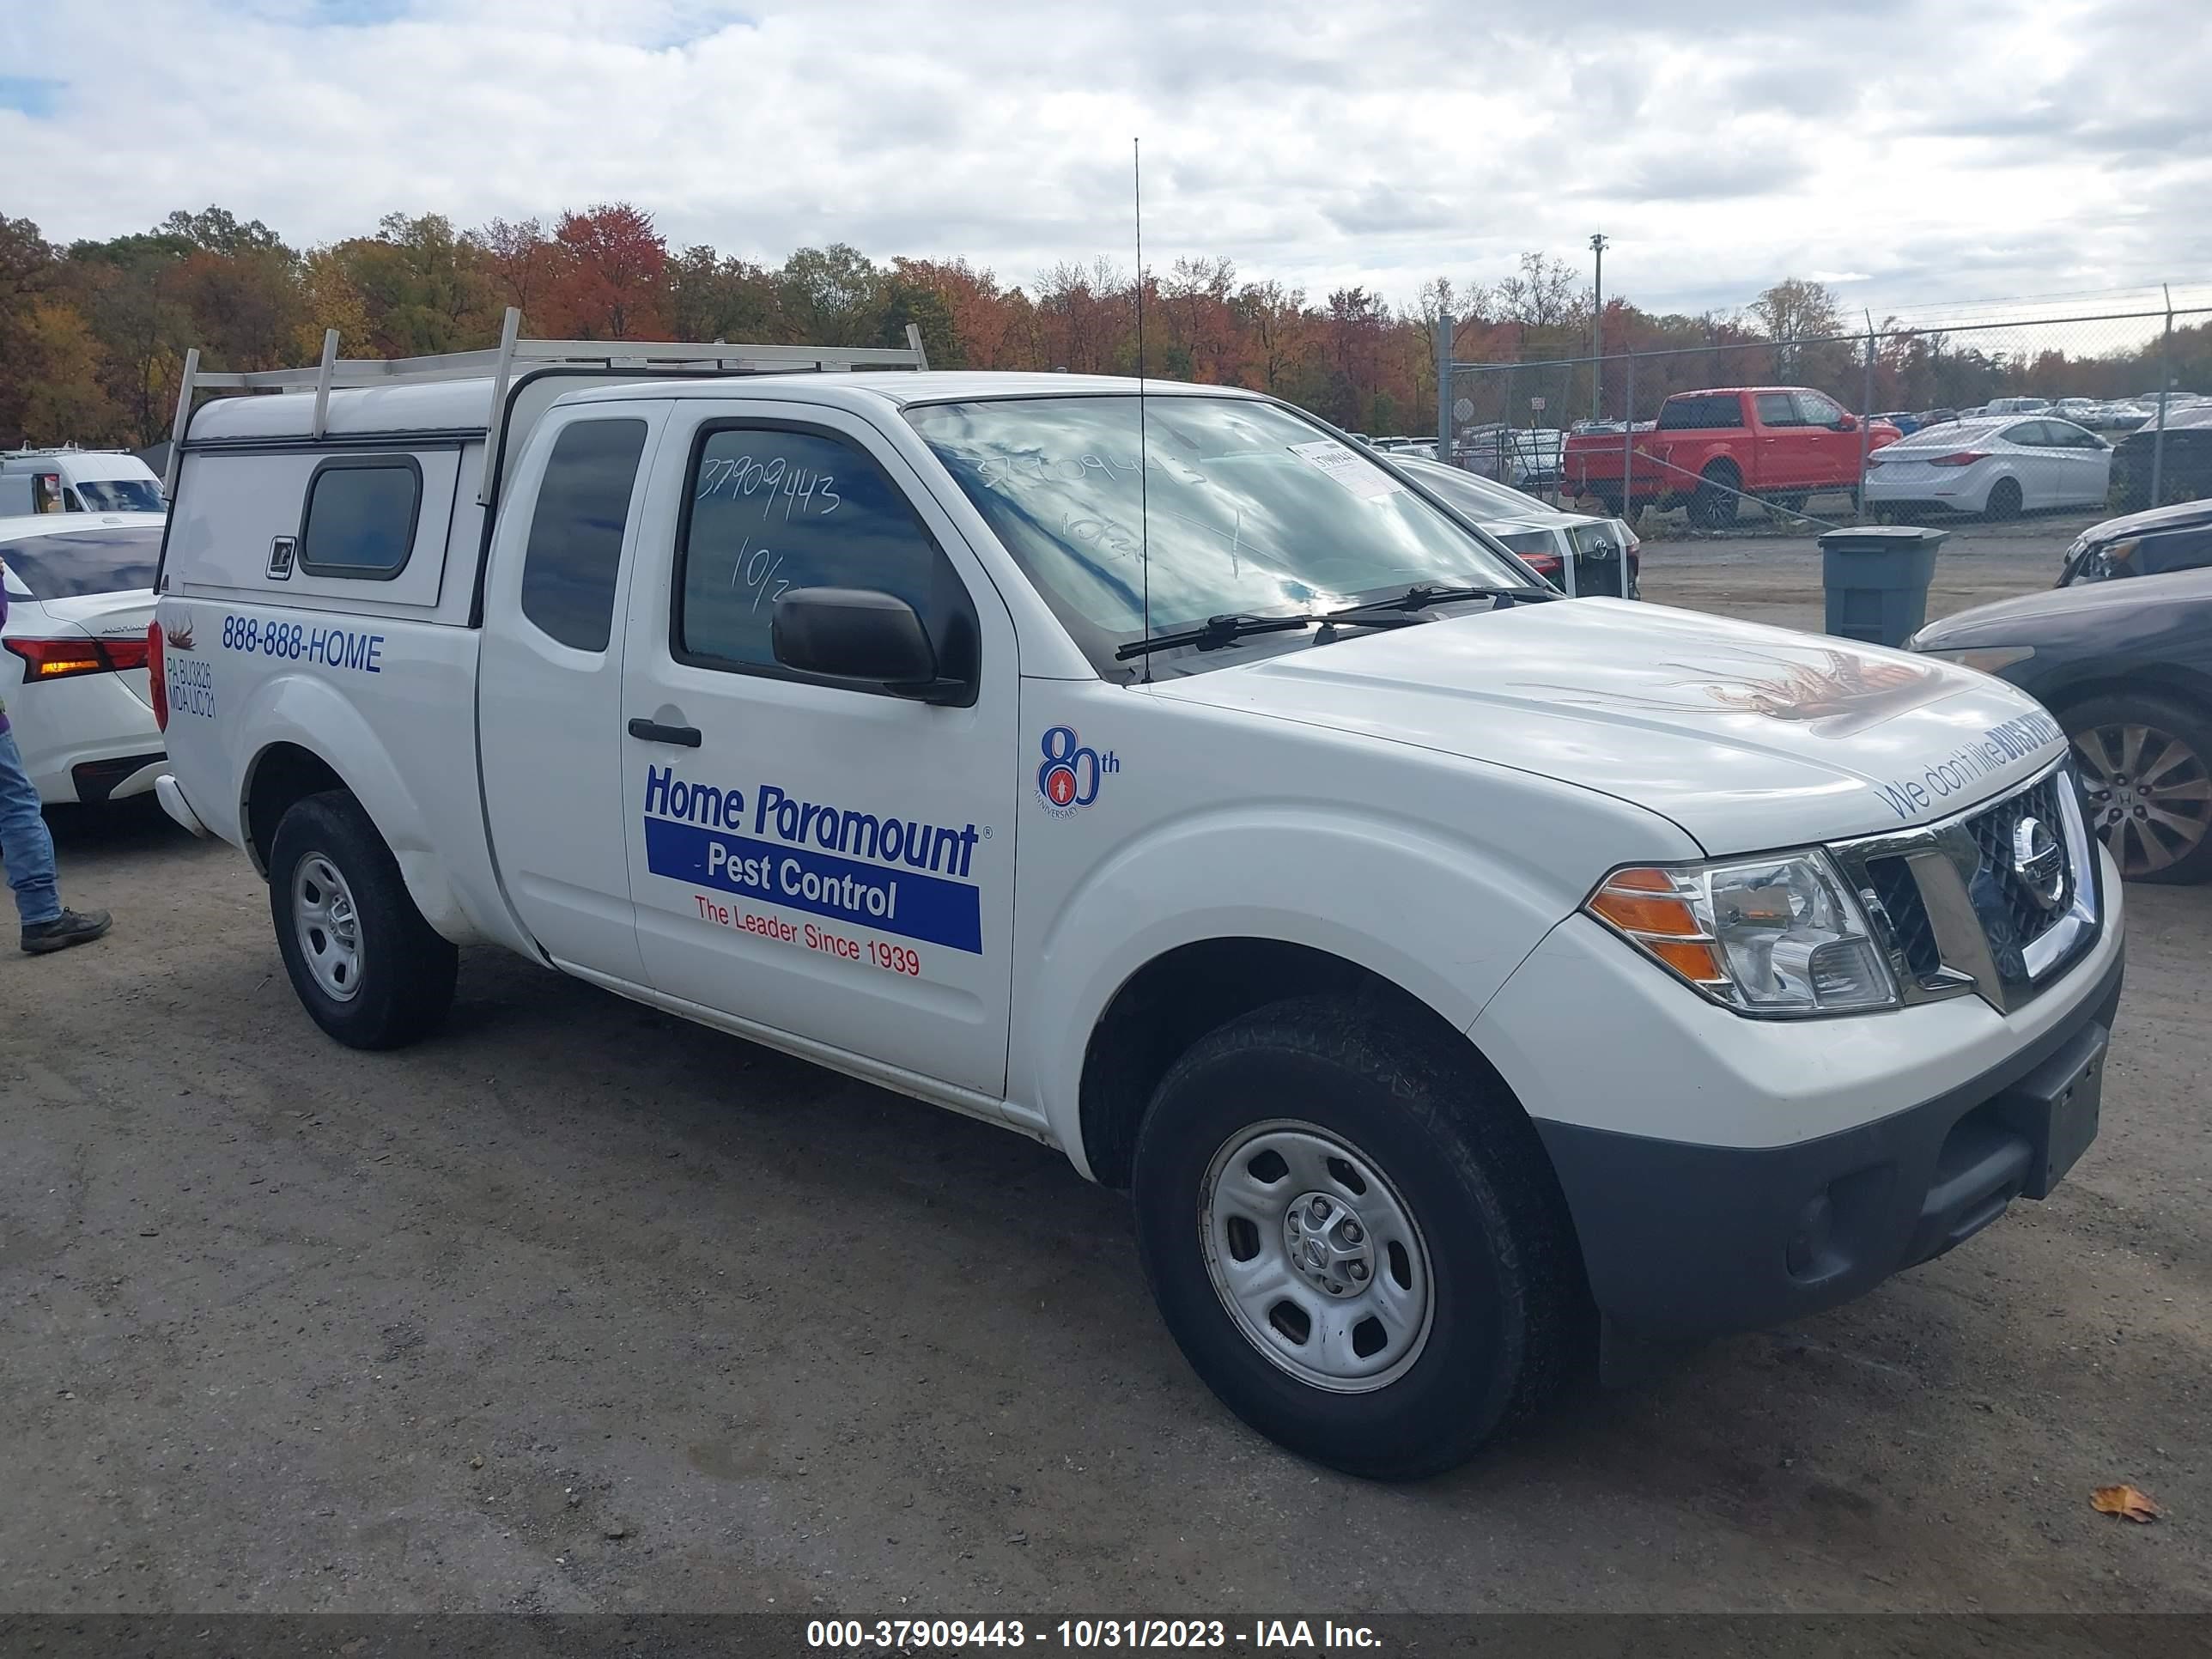
<path fill-rule="evenodd" d="M 1371 1394 L 1429 1345 L 1436 1274 L 1383 1166 L 1298 1119 L 1237 1130 L 1206 1168 L 1199 1250 L 1237 1329 L 1283 1374 Z"/>

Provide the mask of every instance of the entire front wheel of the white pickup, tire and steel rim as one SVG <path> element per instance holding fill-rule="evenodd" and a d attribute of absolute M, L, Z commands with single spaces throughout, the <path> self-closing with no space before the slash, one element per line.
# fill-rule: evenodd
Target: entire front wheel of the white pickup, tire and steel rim
<path fill-rule="evenodd" d="M 1356 1475 L 1464 1462 L 1588 1347 L 1551 1161 L 1455 1048 L 1352 1000 L 1279 1002 L 1192 1046 L 1137 1137 L 1137 1248 L 1183 1356 Z"/>

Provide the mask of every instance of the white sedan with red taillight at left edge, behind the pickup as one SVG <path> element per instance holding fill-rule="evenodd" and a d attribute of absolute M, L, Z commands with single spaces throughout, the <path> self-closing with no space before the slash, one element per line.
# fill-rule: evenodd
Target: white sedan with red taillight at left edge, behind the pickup
<path fill-rule="evenodd" d="M 159 513 L 0 518 L 0 703 L 46 805 L 144 794 L 161 772 L 146 677 Z"/>

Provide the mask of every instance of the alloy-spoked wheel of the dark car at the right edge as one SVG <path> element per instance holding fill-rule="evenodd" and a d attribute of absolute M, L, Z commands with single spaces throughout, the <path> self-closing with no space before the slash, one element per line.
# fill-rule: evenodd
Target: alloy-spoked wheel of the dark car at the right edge
<path fill-rule="evenodd" d="M 2212 880 L 2212 714 L 2128 692 L 2064 708 L 2059 726 L 2073 739 L 2090 830 L 2121 878 Z M 2130 743 L 2135 774 L 2126 770 Z"/>

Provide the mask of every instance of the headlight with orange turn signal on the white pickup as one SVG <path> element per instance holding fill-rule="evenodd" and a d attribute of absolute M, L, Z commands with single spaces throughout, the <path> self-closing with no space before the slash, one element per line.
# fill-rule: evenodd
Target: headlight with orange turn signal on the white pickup
<path fill-rule="evenodd" d="M 1898 1004 L 1874 929 L 1825 852 L 1615 869 L 1584 909 L 1739 1013 Z"/>

